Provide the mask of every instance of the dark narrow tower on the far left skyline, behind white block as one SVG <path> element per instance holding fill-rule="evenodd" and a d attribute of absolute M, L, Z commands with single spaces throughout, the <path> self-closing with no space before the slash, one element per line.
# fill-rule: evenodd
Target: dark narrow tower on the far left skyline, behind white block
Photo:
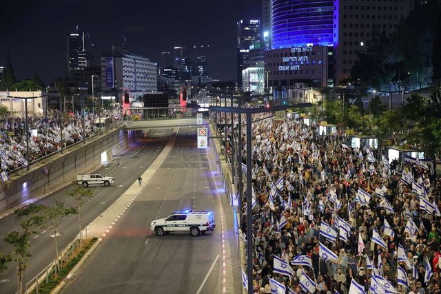
<path fill-rule="evenodd" d="M 79 32 L 77 28 L 66 37 L 68 76 L 73 70 L 84 70 L 87 66 L 84 36 L 84 32 Z"/>

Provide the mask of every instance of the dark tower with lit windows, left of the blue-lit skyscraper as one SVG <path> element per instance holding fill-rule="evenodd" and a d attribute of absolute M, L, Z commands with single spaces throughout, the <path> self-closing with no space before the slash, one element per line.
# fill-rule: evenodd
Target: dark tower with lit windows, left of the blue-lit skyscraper
<path fill-rule="evenodd" d="M 249 47 L 260 43 L 260 21 L 243 19 L 237 23 L 237 83 L 242 88 L 242 70 L 249 66 Z"/>

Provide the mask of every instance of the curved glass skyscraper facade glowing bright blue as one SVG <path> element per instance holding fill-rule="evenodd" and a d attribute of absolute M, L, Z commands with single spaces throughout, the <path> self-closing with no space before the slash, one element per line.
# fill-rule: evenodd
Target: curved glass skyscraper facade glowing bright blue
<path fill-rule="evenodd" d="M 272 48 L 332 46 L 338 40 L 336 0 L 273 0 Z M 336 9 L 334 9 L 336 6 Z"/>

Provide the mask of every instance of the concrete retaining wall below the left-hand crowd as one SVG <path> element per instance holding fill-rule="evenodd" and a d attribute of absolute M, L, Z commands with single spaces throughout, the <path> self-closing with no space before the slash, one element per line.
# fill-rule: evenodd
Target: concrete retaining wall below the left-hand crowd
<path fill-rule="evenodd" d="M 0 213 L 68 185 L 77 174 L 98 169 L 103 151 L 107 151 L 107 160 L 112 160 L 112 149 L 120 154 L 127 149 L 128 141 L 127 131 L 120 127 L 86 140 L 85 145 L 68 147 L 63 154 L 32 165 L 29 171 L 19 171 L 8 182 L 0 182 Z"/>

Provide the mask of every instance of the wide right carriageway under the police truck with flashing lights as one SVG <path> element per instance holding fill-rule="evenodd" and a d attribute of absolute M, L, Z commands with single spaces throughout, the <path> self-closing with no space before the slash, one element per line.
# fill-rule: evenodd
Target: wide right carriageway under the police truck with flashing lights
<path fill-rule="evenodd" d="M 231 211 L 209 165 L 213 148 L 197 149 L 196 127 L 181 127 L 150 182 L 62 293 L 223 293 L 220 207 Z M 214 210 L 216 230 L 150 231 L 152 220 L 178 209 Z"/>

